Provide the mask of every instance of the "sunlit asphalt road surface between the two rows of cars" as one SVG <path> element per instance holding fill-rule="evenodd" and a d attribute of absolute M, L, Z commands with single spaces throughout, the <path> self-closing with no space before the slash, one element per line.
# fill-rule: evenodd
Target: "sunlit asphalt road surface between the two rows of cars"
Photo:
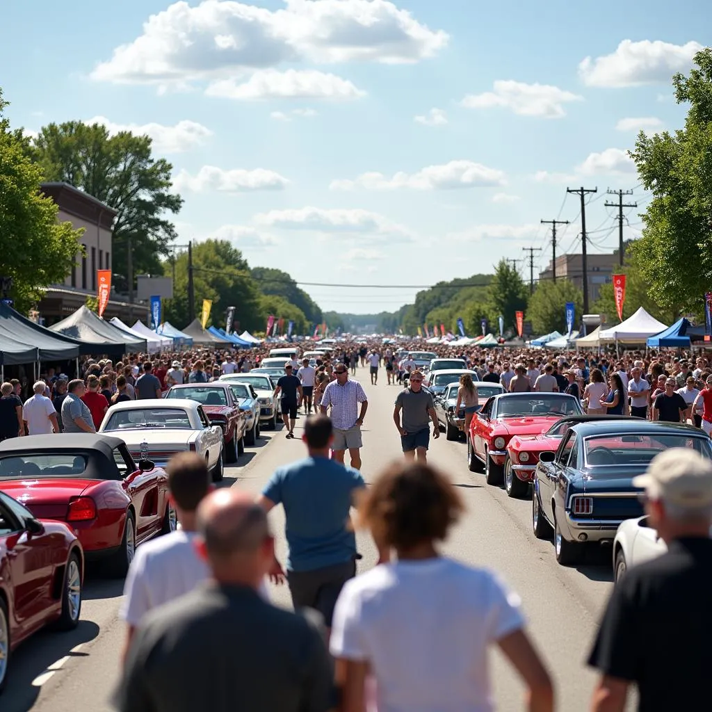
<path fill-rule="evenodd" d="M 370 399 L 362 450 L 367 481 L 384 464 L 402 456 L 392 422 L 398 387 L 386 384 L 383 370 L 381 375 L 376 387 L 370 385 L 366 369 L 359 368 L 356 376 Z M 297 436 L 301 423 L 303 418 L 297 422 Z M 258 493 L 276 467 L 305 453 L 298 438 L 287 440 L 282 431 L 263 435 L 258 446 L 246 449 L 238 467 L 226 469 L 225 486 Z M 585 659 L 612 587 L 609 550 L 592 553 L 585 565 L 558 565 L 553 545 L 532 534 L 530 501 L 509 499 L 503 490 L 486 485 L 482 475 L 470 473 L 464 443 L 448 442 L 443 435 L 431 441 L 429 457 L 449 474 L 467 504 L 466 516 L 446 543 L 446 553 L 501 573 L 523 599 L 530 632 L 555 680 L 557 709 L 587 708 L 595 675 L 586 668 Z M 283 558 L 281 508 L 273 511 L 271 519 Z M 360 569 L 365 570 L 375 564 L 376 551 L 367 535 L 360 535 L 359 547 L 364 556 Z M 272 587 L 272 595 L 276 603 L 290 604 L 286 587 Z M 90 574 L 78 628 L 65 634 L 41 632 L 14 654 L 7 689 L 0 697 L 2 712 L 109 711 L 125 635 L 117 615 L 121 597 L 122 582 Z M 491 677 L 497 708 L 522 709 L 523 688 L 498 651 L 492 656 Z"/>

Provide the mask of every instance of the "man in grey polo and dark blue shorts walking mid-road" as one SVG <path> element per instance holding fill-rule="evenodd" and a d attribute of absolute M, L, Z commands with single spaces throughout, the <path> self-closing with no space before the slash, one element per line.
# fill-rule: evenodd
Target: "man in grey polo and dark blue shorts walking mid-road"
<path fill-rule="evenodd" d="M 419 461 L 425 462 L 430 444 L 430 423 L 433 424 L 435 439 L 440 437 L 440 424 L 433 396 L 431 392 L 423 389 L 422 372 L 412 372 L 409 387 L 398 394 L 393 410 L 393 422 L 400 433 L 406 459 L 412 460 L 417 456 Z"/>

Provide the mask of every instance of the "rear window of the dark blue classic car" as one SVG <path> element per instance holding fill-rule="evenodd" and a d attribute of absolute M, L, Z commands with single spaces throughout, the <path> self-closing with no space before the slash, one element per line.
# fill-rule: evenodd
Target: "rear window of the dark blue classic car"
<path fill-rule="evenodd" d="M 688 433 L 679 434 L 624 434 L 588 437 L 584 441 L 588 466 L 633 465 L 645 466 L 659 452 L 671 447 L 694 450 L 702 456 L 712 457 L 709 438 Z"/>

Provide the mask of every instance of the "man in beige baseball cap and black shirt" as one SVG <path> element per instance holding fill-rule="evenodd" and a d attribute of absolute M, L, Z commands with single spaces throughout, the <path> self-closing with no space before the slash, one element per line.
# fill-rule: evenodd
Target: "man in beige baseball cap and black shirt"
<path fill-rule="evenodd" d="M 640 710 L 701 709 L 712 639 L 712 461 L 672 448 L 633 484 L 644 488 L 646 523 L 668 550 L 613 590 L 588 661 L 601 672 L 591 709 L 622 711 L 631 684 Z"/>

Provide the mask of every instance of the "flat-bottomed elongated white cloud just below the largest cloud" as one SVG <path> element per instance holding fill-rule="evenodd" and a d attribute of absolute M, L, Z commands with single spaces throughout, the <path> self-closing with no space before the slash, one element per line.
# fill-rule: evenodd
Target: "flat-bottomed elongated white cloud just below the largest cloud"
<path fill-rule="evenodd" d="M 208 96 L 227 99 L 357 99 L 366 93 L 347 79 L 314 69 L 258 70 L 243 83 L 221 79 L 205 90 Z"/>

